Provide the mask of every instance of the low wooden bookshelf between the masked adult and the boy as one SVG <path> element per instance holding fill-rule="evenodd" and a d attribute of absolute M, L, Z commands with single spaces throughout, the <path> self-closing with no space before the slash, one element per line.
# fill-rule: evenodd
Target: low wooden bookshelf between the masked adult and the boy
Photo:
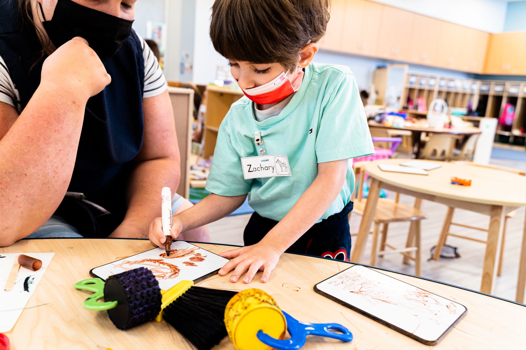
<path fill-rule="evenodd" d="M 203 135 L 203 157 L 214 155 L 217 133 L 221 121 L 225 118 L 230 106 L 243 96 L 241 90 L 208 85 L 206 87 L 206 118 Z"/>

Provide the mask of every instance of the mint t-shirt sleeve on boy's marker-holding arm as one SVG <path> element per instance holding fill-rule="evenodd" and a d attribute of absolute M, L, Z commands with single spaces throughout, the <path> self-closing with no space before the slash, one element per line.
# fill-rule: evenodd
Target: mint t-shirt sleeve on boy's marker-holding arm
<path fill-rule="evenodd" d="M 250 192 L 252 180 L 245 180 L 241 157 L 234 149 L 225 123 L 221 123 L 208 179 L 207 191 L 232 197 Z"/>

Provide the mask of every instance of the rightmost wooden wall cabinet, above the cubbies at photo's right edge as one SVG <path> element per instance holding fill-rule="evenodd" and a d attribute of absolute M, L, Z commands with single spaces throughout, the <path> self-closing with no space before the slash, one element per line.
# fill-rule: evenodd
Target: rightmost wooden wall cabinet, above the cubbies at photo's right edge
<path fill-rule="evenodd" d="M 526 75 L 524 47 L 526 32 L 492 34 L 484 73 Z"/>

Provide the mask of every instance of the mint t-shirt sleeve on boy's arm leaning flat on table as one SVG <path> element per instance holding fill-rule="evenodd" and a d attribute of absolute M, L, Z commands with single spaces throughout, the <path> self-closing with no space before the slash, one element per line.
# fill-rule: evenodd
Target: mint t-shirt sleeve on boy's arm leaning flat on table
<path fill-rule="evenodd" d="M 332 90 L 318 125 L 318 163 L 375 153 L 360 92 L 352 74 L 343 75 Z"/>

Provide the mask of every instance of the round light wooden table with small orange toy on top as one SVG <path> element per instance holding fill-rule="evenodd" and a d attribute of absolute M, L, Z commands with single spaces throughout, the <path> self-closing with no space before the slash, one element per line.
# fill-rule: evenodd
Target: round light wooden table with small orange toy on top
<path fill-rule="evenodd" d="M 495 169 L 428 160 L 426 162 L 436 162 L 441 167 L 429 170 L 429 175 L 427 176 L 387 172 L 378 168 L 378 164 L 398 165 L 404 161 L 407 161 L 407 159 L 363 162 L 363 169 L 369 174 L 372 181 L 356 243 L 353 245 L 351 261 L 360 261 L 375 214 L 380 189 L 392 190 L 446 204 L 449 207 L 466 209 L 490 216 L 480 291 L 492 294 L 493 279 L 497 274 L 497 261 L 502 241 L 504 217 L 517 208 L 526 207 L 526 177 Z M 451 184 L 451 177 L 471 179 L 471 186 L 463 187 Z M 526 222 L 524 226 L 517 296 L 515 298 L 519 303 L 524 302 L 524 288 L 526 285 Z M 447 230 L 445 223 L 442 230 Z"/>

